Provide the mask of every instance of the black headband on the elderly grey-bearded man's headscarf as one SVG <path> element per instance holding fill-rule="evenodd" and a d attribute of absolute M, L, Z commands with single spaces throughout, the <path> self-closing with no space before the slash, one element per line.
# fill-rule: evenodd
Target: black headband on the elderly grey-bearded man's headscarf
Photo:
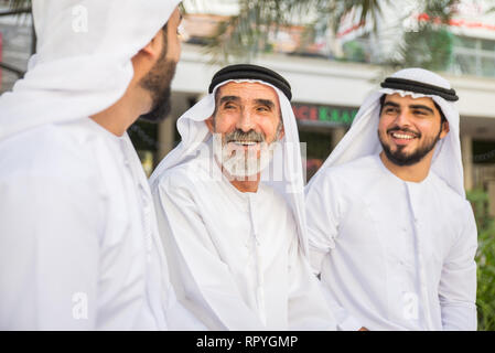
<path fill-rule="evenodd" d="M 222 68 L 213 76 L 208 93 L 213 93 L 213 89 L 218 84 L 229 79 L 259 79 L 276 86 L 286 95 L 287 98 L 289 98 L 289 100 L 292 99 L 291 87 L 286 78 L 277 74 L 275 71 L 250 64 L 230 65 Z"/>

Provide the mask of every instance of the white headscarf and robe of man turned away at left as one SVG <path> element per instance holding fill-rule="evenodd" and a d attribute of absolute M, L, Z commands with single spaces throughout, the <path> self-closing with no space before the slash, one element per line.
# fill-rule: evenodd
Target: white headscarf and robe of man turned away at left
<path fill-rule="evenodd" d="M 88 118 L 177 3 L 33 2 L 37 54 L 0 97 L 0 329 L 203 328 L 175 299 L 129 137 Z"/>

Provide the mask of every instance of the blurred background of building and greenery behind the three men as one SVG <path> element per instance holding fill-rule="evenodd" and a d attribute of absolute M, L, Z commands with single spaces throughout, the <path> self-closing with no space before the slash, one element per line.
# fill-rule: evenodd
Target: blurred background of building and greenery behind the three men
<path fill-rule="evenodd" d="M 411 66 L 438 72 L 460 96 L 464 183 L 480 232 L 480 330 L 495 330 L 495 0 L 185 0 L 182 7 L 173 109 L 159 125 L 138 121 L 129 130 L 146 172 L 180 142 L 176 119 L 223 65 L 259 64 L 290 82 L 308 180 L 384 77 Z M 24 75 L 35 46 L 31 1 L 0 0 L 0 94 Z"/>

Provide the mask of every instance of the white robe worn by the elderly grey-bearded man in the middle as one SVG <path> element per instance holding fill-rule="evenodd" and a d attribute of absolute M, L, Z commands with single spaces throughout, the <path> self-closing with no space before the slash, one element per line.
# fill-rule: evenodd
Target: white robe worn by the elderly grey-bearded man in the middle
<path fill-rule="evenodd" d="M 241 193 L 212 158 L 154 183 L 159 229 L 179 300 L 211 330 L 335 330 L 283 197 Z"/>

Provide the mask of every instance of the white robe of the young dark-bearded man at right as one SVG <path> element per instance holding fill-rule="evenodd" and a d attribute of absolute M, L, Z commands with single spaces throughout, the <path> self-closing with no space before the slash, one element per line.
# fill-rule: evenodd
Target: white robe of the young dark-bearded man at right
<path fill-rule="evenodd" d="M 306 210 L 311 263 L 343 329 L 476 329 L 473 212 L 432 171 L 405 182 L 364 157 L 325 170 Z"/>

